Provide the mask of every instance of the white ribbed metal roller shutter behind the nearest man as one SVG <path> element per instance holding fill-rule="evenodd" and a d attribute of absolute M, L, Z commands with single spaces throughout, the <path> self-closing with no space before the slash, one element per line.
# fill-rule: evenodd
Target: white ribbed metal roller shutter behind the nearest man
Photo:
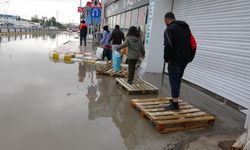
<path fill-rule="evenodd" d="M 250 1 L 174 0 L 197 39 L 184 79 L 250 108 Z"/>

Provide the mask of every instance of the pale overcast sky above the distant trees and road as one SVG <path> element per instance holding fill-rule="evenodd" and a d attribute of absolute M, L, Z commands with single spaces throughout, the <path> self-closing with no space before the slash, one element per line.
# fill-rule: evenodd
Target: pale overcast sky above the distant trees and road
<path fill-rule="evenodd" d="M 8 4 L 2 3 L 9 1 Z M 83 5 L 90 0 L 82 0 Z M 80 0 L 0 0 L 0 13 L 18 15 L 25 19 L 38 15 L 39 17 L 57 17 L 63 23 L 78 23 L 80 15 L 77 13 L 77 7 Z"/>

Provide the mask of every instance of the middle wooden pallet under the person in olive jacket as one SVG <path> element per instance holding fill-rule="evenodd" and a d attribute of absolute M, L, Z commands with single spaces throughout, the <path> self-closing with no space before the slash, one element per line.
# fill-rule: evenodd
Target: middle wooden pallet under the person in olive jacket
<path fill-rule="evenodd" d="M 158 88 L 142 80 L 135 79 L 133 84 L 127 83 L 127 79 L 116 78 L 116 83 L 121 85 L 129 94 L 158 94 Z"/>

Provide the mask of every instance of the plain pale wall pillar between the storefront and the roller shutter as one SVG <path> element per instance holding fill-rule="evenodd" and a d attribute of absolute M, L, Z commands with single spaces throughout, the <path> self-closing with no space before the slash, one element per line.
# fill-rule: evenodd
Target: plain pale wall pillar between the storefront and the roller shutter
<path fill-rule="evenodd" d="M 149 43 L 146 46 L 146 72 L 160 73 L 163 68 L 163 33 L 166 29 L 164 16 L 171 11 L 172 0 L 150 0 L 152 2 L 155 4 Z"/>

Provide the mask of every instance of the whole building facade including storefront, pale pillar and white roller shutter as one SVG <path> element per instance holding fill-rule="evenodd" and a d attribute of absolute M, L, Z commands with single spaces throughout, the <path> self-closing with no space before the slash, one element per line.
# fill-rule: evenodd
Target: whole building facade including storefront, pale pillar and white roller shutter
<path fill-rule="evenodd" d="M 250 108 L 249 0 L 106 0 L 104 20 L 145 32 L 147 72 L 162 72 L 164 15 L 175 13 L 196 37 L 196 58 L 184 79 Z"/>

